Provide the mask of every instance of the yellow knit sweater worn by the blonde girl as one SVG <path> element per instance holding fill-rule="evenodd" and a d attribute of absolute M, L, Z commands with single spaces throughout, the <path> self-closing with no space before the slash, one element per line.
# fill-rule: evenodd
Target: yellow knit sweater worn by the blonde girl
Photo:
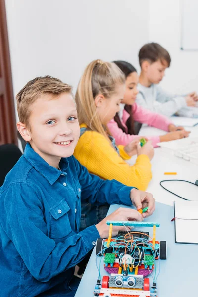
<path fill-rule="evenodd" d="M 87 127 L 85 124 L 80 126 Z M 102 179 L 115 179 L 127 186 L 145 191 L 152 178 L 151 163 L 147 155 L 139 155 L 133 166 L 124 160 L 130 159 L 124 146 L 118 146 L 120 156 L 100 133 L 86 131 L 74 151 L 75 158 L 90 173 Z M 124 159 L 124 160 L 123 160 Z"/>

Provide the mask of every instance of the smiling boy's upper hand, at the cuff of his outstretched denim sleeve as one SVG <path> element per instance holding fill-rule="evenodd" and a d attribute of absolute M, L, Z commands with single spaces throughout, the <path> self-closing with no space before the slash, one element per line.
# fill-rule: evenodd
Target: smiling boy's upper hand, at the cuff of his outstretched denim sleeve
<path fill-rule="evenodd" d="M 136 206 L 137 210 L 148 207 L 148 210 L 142 214 L 144 218 L 153 214 L 155 210 L 155 199 L 153 195 L 148 192 L 140 191 L 137 189 L 131 190 L 131 201 L 134 206 Z"/>

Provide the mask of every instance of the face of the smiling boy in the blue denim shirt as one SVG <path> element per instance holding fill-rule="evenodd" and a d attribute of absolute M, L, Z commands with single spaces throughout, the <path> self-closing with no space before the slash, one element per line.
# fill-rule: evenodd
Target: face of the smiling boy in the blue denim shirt
<path fill-rule="evenodd" d="M 72 95 L 62 93 L 51 98 L 45 94 L 38 98 L 31 106 L 29 127 L 23 131 L 23 138 L 49 165 L 57 167 L 60 158 L 73 154 L 80 136 Z"/>

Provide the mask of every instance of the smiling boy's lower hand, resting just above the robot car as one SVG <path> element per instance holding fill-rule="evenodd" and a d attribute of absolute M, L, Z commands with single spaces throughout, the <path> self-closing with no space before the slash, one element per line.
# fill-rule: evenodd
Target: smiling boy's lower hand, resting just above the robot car
<path fill-rule="evenodd" d="M 137 190 L 138 191 L 138 190 Z M 109 226 L 106 224 L 106 221 L 139 221 L 141 222 L 143 220 L 143 215 L 140 214 L 135 209 L 130 208 L 124 208 L 119 207 L 114 212 L 112 212 L 110 215 L 108 215 L 106 218 L 104 218 L 101 222 L 99 222 L 96 225 L 96 228 L 99 232 L 99 235 L 101 238 L 108 237 L 109 233 Z M 112 229 L 112 236 L 115 236 L 118 234 L 119 230 L 131 230 L 129 226 L 113 226 Z"/>

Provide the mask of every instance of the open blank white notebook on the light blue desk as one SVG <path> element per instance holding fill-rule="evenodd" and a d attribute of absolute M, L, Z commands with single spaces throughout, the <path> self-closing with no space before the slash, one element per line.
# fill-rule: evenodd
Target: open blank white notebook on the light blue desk
<path fill-rule="evenodd" d="M 198 201 L 174 201 L 175 242 L 198 244 Z"/>

